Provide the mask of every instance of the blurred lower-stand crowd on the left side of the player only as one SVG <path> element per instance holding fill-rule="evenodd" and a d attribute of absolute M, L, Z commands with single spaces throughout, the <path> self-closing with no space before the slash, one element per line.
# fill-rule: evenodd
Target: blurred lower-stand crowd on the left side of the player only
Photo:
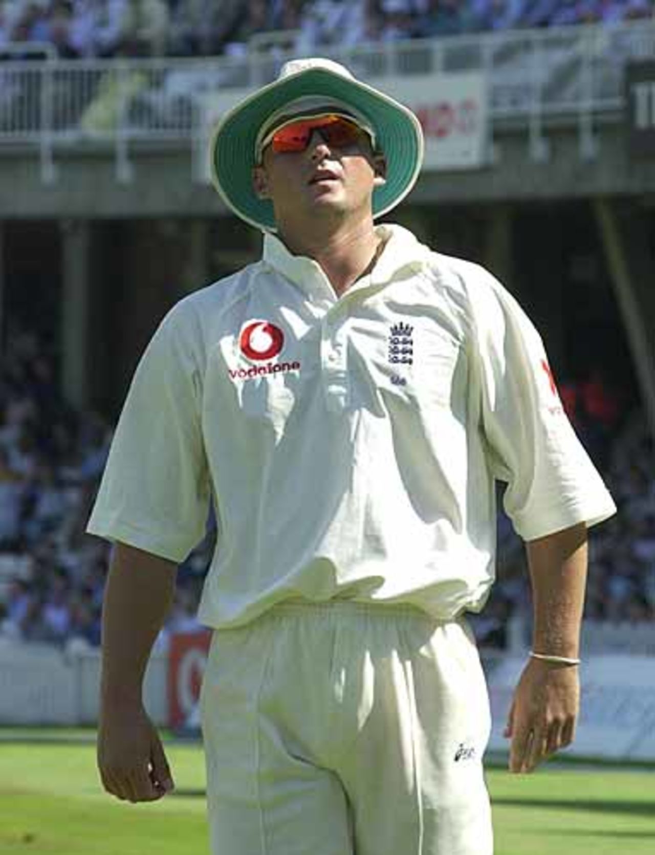
<path fill-rule="evenodd" d="M 0 636 L 97 646 L 109 546 L 85 534 L 110 426 L 57 392 L 54 354 L 9 338 L 0 370 Z M 180 568 L 167 632 L 198 628 L 204 544 Z"/>

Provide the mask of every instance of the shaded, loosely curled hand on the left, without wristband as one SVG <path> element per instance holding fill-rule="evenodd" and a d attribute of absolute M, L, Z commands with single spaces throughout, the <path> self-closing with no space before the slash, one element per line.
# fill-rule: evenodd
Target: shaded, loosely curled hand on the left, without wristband
<path fill-rule="evenodd" d="M 117 799 L 156 801 L 174 789 L 162 741 L 140 706 L 103 711 L 97 768 L 103 787 Z"/>

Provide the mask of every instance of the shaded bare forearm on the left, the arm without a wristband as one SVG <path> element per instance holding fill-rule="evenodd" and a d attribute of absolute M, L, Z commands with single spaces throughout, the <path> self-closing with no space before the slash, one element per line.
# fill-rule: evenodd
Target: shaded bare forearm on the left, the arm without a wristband
<path fill-rule="evenodd" d="M 145 666 L 170 610 L 177 565 L 117 544 L 103 600 L 103 706 L 140 703 Z"/>

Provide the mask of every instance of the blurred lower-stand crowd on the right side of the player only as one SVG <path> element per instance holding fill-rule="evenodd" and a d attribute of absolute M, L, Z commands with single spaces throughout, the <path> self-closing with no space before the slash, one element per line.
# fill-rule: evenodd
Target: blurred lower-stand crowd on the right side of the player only
<path fill-rule="evenodd" d="M 599 371 L 563 382 L 560 397 L 575 431 L 604 475 L 619 512 L 589 537 L 585 619 L 655 621 L 655 443 L 643 413 L 628 410 Z M 510 618 L 531 614 L 525 551 L 499 516 L 498 581 L 476 632 L 488 646 L 507 644 Z"/>

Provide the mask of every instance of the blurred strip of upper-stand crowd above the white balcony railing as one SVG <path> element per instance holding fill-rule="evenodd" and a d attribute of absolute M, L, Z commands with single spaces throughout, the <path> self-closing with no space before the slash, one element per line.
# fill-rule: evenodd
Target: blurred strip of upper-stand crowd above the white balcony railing
<path fill-rule="evenodd" d="M 50 44 L 66 59 L 233 55 L 275 32 L 308 53 L 652 15 L 653 0 L 0 0 L 0 55 L 9 43 Z"/>

